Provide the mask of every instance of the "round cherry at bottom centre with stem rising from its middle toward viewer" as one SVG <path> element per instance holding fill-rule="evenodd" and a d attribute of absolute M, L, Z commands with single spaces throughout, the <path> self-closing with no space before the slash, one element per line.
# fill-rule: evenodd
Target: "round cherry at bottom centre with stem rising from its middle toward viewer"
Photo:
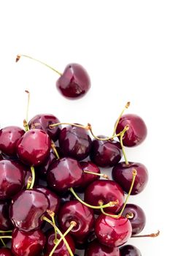
<path fill-rule="evenodd" d="M 77 225 L 72 228 L 70 234 L 76 238 L 87 236 L 94 225 L 93 210 L 82 205 L 82 203 L 77 200 L 65 203 L 60 208 L 58 223 L 61 228 L 66 231 L 72 221 L 76 222 Z"/>

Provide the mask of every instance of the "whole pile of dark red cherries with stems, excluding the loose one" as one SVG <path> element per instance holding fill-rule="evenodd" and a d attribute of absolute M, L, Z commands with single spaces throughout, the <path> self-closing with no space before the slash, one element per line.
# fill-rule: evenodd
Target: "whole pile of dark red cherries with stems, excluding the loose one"
<path fill-rule="evenodd" d="M 0 256 L 141 255 L 123 244 L 145 225 L 142 208 L 127 201 L 143 191 L 147 168 L 128 162 L 124 148 L 146 138 L 142 118 L 121 113 L 111 137 L 52 114 L 24 128 L 0 130 Z M 112 178 L 99 167 L 112 167 Z"/>

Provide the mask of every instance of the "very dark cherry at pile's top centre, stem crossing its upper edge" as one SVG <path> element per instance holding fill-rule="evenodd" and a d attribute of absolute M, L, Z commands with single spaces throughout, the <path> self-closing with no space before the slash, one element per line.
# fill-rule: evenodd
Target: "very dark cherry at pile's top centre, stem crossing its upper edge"
<path fill-rule="evenodd" d="M 59 146 L 65 157 L 82 160 L 88 157 L 91 148 L 89 132 L 81 127 L 67 126 L 61 130 Z"/>

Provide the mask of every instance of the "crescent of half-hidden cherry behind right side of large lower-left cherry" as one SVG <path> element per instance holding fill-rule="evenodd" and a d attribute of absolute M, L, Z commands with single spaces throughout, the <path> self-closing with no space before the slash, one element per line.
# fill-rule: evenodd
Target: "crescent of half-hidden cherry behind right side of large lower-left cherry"
<path fill-rule="evenodd" d="M 58 213 L 58 208 L 60 206 L 60 197 L 56 195 L 54 192 L 50 191 L 50 189 L 47 189 L 47 187 L 36 187 L 37 190 L 41 191 L 44 193 L 50 204 L 49 204 L 49 210 L 53 211 L 55 214 Z"/>

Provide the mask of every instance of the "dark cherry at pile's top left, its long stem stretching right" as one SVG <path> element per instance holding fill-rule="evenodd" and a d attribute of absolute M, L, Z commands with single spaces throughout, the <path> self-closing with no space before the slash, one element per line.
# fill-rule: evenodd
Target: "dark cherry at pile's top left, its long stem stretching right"
<path fill-rule="evenodd" d="M 57 117 L 53 116 L 52 114 L 39 114 L 31 118 L 28 123 L 30 129 L 42 129 L 43 131 L 47 132 L 50 139 L 55 141 L 58 140 L 58 135 L 61 131 L 61 125 L 58 127 L 50 128 L 50 124 L 57 124 L 60 121 Z"/>

